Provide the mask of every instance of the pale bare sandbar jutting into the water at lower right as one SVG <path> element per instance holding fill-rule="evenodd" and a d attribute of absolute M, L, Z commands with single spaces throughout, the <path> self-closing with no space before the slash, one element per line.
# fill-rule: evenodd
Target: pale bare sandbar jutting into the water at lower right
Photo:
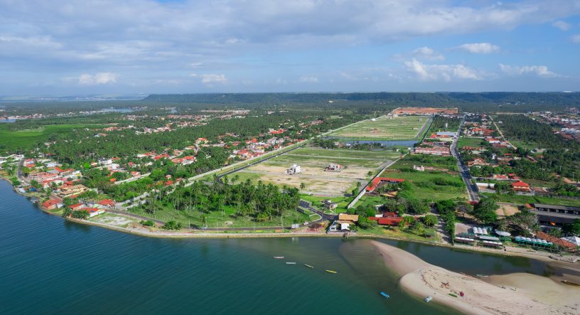
<path fill-rule="evenodd" d="M 490 276 L 484 282 L 430 265 L 397 247 L 371 242 L 385 264 L 402 276 L 401 287 L 421 299 L 433 297 L 431 303 L 444 304 L 466 314 L 580 313 L 580 289 L 557 280 L 535 274 L 507 274 Z M 465 296 L 460 297 L 459 292 Z"/>

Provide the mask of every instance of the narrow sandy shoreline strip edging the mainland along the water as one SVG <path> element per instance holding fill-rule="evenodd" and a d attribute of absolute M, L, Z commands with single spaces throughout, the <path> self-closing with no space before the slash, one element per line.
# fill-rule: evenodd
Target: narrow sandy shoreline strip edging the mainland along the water
<path fill-rule="evenodd" d="M 9 183 L 12 187 L 12 190 L 18 195 L 26 197 L 27 199 L 35 197 L 28 193 L 21 193 L 19 192 L 16 187 L 12 186 L 11 181 L 9 178 L 4 176 L 0 176 L 0 178 L 4 179 Z M 38 208 L 43 211 L 43 213 L 47 213 L 49 215 L 56 215 L 55 213 L 51 213 L 49 210 L 45 210 L 42 208 L 41 205 L 37 205 Z M 116 215 L 120 215 L 117 214 Z M 56 215 L 58 216 L 58 215 Z M 120 215 L 123 216 L 123 215 Z M 142 237 L 157 237 L 157 238 L 243 238 L 243 237 L 343 237 L 342 235 L 332 235 L 327 233 L 195 233 L 195 232 L 185 232 L 185 231 L 168 231 L 168 230 L 161 230 L 156 228 L 155 230 L 151 230 L 150 228 L 121 228 L 114 225 L 109 225 L 106 223 L 97 223 L 88 220 L 78 220 L 73 218 L 63 218 L 63 220 L 68 220 L 69 222 L 80 223 L 85 225 L 93 225 L 98 226 L 100 228 L 107 228 L 109 230 L 114 230 L 121 233 L 127 233 L 131 235 L 139 235 Z M 570 262 L 556 260 L 553 258 L 548 257 L 548 255 L 539 255 L 535 253 L 527 253 L 527 252 L 515 252 L 515 251 L 500 251 L 500 250 L 492 250 L 485 247 L 472 247 L 472 246 L 463 246 L 463 245 L 451 245 L 446 243 L 439 243 L 439 242 L 426 242 L 421 240 L 414 240 L 414 239 L 407 239 L 404 237 L 391 237 L 385 235 L 376 235 L 376 234 L 365 234 L 365 235 L 348 235 L 348 237 L 356 237 L 356 238 L 368 238 L 368 239 L 382 239 L 382 240 L 397 240 L 397 241 L 404 241 L 404 242 L 416 242 L 425 245 L 432 245 L 437 247 L 446 247 L 451 248 L 453 250 L 465 250 L 468 252 L 485 252 L 489 255 L 498 255 L 498 256 L 518 256 L 518 257 L 526 257 L 535 260 L 542 260 L 544 262 L 565 262 L 566 264 L 570 264 Z"/>

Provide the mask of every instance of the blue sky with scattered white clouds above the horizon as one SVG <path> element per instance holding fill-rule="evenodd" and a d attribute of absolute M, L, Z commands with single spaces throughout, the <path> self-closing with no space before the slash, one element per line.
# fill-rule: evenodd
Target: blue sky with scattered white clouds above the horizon
<path fill-rule="evenodd" d="M 0 0 L 0 95 L 578 91 L 580 0 Z"/>

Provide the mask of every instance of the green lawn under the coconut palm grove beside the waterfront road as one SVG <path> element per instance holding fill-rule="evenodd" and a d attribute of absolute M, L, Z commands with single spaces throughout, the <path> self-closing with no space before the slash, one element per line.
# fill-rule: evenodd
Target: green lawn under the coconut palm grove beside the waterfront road
<path fill-rule="evenodd" d="M 226 206 L 224 213 L 220 211 L 212 211 L 203 213 L 200 210 L 175 210 L 173 208 L 163 208 L 163 210 L 156 210 L 155 213 L 147 213 L 141 208 L 129 209 L 131 213 L 143 215 L 148 218 L 154 218 L 167 222 L 168 220 L 176 220 L 181 222 L 184 227 L 193 225 L 201 225 L 201 216 L 206 215 L 208 220 L 208 228 L 267 228 L 274 226 L 281 226 L 283 222 L 285 226 L 292 223 L 303 223 L 311 220 L 309 215 L 304 215 L 296 210 L 291 210 L 284 215 L 284 218 L 276 217 L 271 221 L 256 222 L 252 216 L 238 216 L 235 207 Z M 228 222 L 232 224 L 227 224 Z"/>

